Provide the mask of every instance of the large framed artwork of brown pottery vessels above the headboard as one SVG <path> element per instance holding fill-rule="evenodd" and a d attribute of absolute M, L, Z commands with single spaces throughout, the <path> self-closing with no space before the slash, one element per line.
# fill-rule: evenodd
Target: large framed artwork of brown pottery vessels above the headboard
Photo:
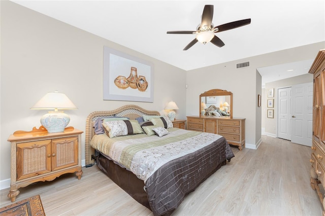
<path fill-rule="evenodd" d="M 103 99 L 153 102 L 153 63 L 104 47 Z"/>

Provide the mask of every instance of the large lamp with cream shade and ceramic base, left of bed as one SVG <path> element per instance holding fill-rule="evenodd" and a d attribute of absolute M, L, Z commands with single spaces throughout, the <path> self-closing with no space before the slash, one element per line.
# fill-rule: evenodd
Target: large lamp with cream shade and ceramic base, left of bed
<path fill-rule="evenodd" d="M 31 110 L 54 110 L 49 111 L 41 118 L 41 124 L 49 133 L 63 132 L 69 124 L 70 117 L 58 110 L 76 110 L 77 106 L 64 93 L 48 92 L 42 97 Z"/>

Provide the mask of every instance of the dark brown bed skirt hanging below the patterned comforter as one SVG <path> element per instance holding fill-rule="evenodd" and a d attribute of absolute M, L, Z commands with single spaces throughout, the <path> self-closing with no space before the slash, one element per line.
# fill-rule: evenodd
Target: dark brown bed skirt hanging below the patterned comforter
<path fill-rule="evenodd" d="M 126 170 L 125 168 L 115 164 L 112 160 L 109 160 L 101 153 L 96 157 L 97 166 L 112 179 L 112 181 L 122 188 L 126 193 L 133 197 L 137 202 L 150 208 L 147 193 L 144 191 L 145 184 L 143 180 L 138 178 L 131 171 Z M 215 169 L 213 169 L 198 185 L 197 187 L 204 182 L 210 175 L 216 172 L 221 166 L 225 165 L 226 161 L 222 161 L 218 164 Z M 195 189 L 194 189 L 195 190 Z M 192 191 L 194 191 L 192 190 Z M 189 194 L 189 191 L 187 194 Z M 186 194 L 186 195 L 187 195 Z M 169 214 L 172 212 L 169 212 Z"/>

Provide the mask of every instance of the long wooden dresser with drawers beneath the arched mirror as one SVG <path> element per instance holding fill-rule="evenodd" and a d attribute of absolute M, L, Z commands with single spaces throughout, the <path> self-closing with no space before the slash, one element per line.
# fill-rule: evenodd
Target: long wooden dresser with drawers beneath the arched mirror
<path fill-rule="evenodd" d="M 219 134 L 240 151 L 245 148 L 245 119 L 188 116 L 187 130 Z"/>

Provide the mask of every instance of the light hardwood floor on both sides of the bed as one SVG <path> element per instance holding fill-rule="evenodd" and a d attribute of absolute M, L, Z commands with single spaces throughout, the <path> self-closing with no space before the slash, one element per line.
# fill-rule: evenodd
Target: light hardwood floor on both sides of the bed
<path fill-rule="evenodd" d="M 263 136 L 257 150 L 232 147 L 235 158 L 187 195 L 172 215 L 321 215 L 310 187 L 309 147 Z M 0 207 L 11 204 L 0 191 Z M 83 167 L 81 180 L 64 174 L 20 189 L 16 201 L 40 195 L 50 215 L 152 215 L 97 166 Z"/>

